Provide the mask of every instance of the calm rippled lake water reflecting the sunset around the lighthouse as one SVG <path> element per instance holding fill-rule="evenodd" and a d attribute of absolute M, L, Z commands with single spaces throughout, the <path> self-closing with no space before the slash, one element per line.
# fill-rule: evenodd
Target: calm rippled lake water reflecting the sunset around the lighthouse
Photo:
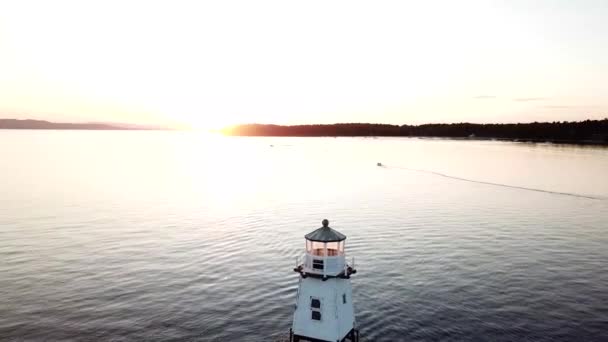
<path fill-rule="evenodd" d="M 366 341 L 608 340 L 605 148 L 0 131 L 0 177 L 1 340 L 272 341 L 323 218 Z"/>

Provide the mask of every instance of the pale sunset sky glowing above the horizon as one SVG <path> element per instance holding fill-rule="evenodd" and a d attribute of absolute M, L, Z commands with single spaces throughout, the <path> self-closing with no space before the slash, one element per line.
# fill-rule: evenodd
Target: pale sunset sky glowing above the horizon
<path fill-rule="evenodd" d="M 3 2 L 0 117 L 603 118 L 606 17 L 606 1 Z"/>

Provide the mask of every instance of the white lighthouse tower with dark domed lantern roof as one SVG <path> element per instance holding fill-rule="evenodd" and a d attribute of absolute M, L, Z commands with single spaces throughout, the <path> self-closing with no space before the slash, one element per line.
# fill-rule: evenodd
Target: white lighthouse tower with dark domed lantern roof
<path fill-rule="evenodd" d="M 359 341 L 350 276 L 357 271 L 344 255 L 346 236 L 329 227 L 306 234 L 290 341 Z M 354 259 L 353 259 L 354 263 Z"/>

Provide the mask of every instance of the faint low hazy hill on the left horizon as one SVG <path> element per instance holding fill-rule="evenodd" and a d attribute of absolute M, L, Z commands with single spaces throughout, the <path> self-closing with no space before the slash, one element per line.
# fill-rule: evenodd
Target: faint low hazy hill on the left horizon
<path fill-rule="evenodd" d="M 63 123 L 44 120 L 0 119 L 0 129 L 86 129 L 86 130 L 145 130 L 158 129 L 128 124 Z"/>

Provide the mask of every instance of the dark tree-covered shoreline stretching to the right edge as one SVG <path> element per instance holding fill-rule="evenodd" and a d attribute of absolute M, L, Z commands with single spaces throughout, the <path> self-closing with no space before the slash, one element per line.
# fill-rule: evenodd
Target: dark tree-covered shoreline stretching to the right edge
<path fill-rule="evenodd" d="M 370 123 L 298 126 L 248 124 L 224 128 L 222 133 L 240 136 L 405 136 L 608 144 L 608 118 L 578 122 L 453 123 L 402 126 Z"/>

